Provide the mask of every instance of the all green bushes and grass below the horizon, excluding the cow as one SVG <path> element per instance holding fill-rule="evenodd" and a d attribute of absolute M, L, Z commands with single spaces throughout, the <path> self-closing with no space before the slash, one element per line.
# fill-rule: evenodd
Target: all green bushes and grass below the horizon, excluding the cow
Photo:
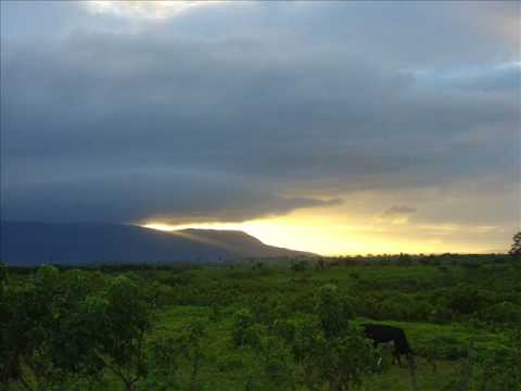
<path fill-rule="evenodd" d="M 378 256 L 0 268 L 9 390 L 520 390 L 521 262 Z"/>

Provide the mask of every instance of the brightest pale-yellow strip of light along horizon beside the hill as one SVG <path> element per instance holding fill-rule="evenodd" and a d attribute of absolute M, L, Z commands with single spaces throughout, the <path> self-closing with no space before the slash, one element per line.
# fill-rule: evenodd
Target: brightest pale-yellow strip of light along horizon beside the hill
<path fill-rule="evenodd" d="M 447 248 L 443 235 L 447 229 L 440 226 L 437 239 L 410 240 L 407 235 L 396 235 L 395 227 L 380 225 L 348 225 L 331 218 L 306 218 L 287 215 L 243 223 L 195 223 L 170 225 L 162 222 L 150 222 L 143 227 L 164 231 L 186 228 L 242 230 L 254 236 L 266 244 L 283 247 L 292 250 L 314 252 L 321 255 L 356 255 L 383 253 L 442 253 L 447 251 L 481 252 L 471 245 L 461 245 L 457 250 Z M 424 226 L 423 229 L 434 229 Z M 417 229 L 409 227 L 409 229 Z M 452 228 L 455 229 L 455 228 Z M 389 237 L 384 237 L 389 235 Z M 382 237 L 383 236 L 383 237 Z M 484 249 L 482 251 L 485 251 Z"/>

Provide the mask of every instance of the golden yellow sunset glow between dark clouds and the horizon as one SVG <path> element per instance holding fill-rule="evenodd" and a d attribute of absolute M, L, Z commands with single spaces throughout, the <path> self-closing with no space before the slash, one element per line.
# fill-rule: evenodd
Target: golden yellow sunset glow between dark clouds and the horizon
<path fill-rule="evenodd" d="M 328 211 L 329 212 L 329 211 Z M 497 227 L 447 224 L 412 224 L 406 218 L 383 220 L 381 217 L 357 220 L 339 214 L 295 211 L 285 216 L 253 219 L 243 223 L 195 223 L 175 225 L 147 222 L 143 227 L 164 231 L 186 228 L 242 230 L 266 244 L 309 251 L 321 255 L 443 253 L 455 251 L 481 253 L 491 250 L 448 239 L 458 235 L 494 231 Z M 497 249 L 500 251 L 500 249 Z"/>

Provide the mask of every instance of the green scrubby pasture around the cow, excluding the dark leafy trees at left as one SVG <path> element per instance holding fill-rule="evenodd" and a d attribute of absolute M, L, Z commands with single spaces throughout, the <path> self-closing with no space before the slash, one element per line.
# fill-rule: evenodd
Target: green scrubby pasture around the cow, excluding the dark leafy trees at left
<path fill-rule="evenodd" d="M 406 332 L 417 353 L 420 390 L 521 389 L 517 383 L 521 349 L 516 339 L 521 319 L 521 273 L 519 263 L 511 260 L 251 261 L 179 268 L 62 270 L 59 278 L 66 280 L 74 273 L 75 278 L 80 273 L 91 281 L 125 276 L 145 292 L 144 305 L 154 308 L 143 342 L 148 370 L 132 390 L 330 390 L 328 380 L 308 387 L 309 367 L 294 354 L 298 330 L 320 324 L 326 288 L 342 298 L 340 306 L 329 307 L 330 316 L 340 316 L 348 307 L 348 315 L 340 316 L 344 326 L 372 321 Z M 13 285 L 31 278 L 27 272 L 11 270 Z M 131 314 L 131 308 L 128 311 Z M 193 325 L 200 325 L 201 332 L 189 338 L 186 354 L 176 356 L 169 366 L 158 366 L 151 346 L 157 341 L 174 341 L 174 345 L 186 341 Z M 319 328 L 317 336 L 326 336 Z M 238 332 L 246 336 L 245 342 L 238 343 Z M 331 341 L 334 348 L 335 340 Z M 271 348 L 266 350 L 267 345 Z M 390 351 L 379 351 L 384 364 L 378 370 L 360 369 L 361 382 L 351 382 L 350 389 L 411 390 L 407 363 L 392 365 Z M 348 352 L 353 363 L 358 353 Z M 329 351 L 321 354 L 330 358 Z M 127 369 L 132 371 L 131 362 Z M 65 388 L 39 386 L 41 376 L 27 371 L 35 390 L 125 389 L 106 369 L 97 386 L 76 379 L 65 382 Z M 20 382 L 9 387 L 23 389 Z"/>

